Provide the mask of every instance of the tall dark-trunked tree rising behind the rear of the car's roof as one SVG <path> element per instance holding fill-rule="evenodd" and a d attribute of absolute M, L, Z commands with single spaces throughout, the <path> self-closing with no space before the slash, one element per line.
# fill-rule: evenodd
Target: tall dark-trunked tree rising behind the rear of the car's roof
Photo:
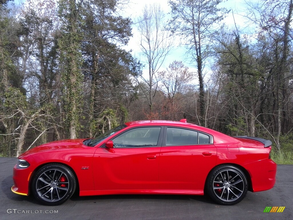
<path fill-rule="evenodd" d="M 172 9 L 170 30 L 183 37 L 192 60 L 197 64 L 199 79 L 200 123 L 205 119 L 205 60 L 210 55 L 210 44 L 217 31 L 218 23 L 228 12 L 218 8 L 223 0 L 175 0 L 169 1 Z"/>

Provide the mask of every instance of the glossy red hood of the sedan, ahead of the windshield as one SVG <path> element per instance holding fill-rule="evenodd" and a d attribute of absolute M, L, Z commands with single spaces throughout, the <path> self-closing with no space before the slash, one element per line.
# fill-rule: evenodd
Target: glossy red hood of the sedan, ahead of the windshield
<path fill-rule="evenodd" d="M 32 148 L 24 152 L 23 154 L 19 156 L 19 158 L 29 154 L 39 153 L 43 151 L 84 148 L 86 146 L 82 142 L 86 139 L 68 139 L 68 140 L 61 140 L 61 141 L 52 141 L 50 143 L 39 145 L 35 148 Z"/>

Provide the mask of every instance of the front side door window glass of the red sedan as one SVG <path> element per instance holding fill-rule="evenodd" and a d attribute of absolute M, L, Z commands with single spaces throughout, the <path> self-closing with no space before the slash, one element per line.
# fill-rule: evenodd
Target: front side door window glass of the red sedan
<path fill-rule="evenodd" d="M 114 148 L 156 146 L 161 127 L 134 128 L 113 139 Z"/>

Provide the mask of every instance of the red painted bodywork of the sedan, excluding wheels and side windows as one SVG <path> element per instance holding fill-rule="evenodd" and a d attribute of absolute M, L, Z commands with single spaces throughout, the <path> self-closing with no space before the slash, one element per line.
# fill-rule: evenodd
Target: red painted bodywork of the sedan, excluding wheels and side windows
<path fill-rule="evenodd" d="M 181 120 L 182 121 L 182 120 Z M 134 121 L 91 147 L 86 139 L 54 141 L 26 151 L 18 159 L 27 168 L 15 165 L 17 194 L 29 195 L 33 177 L 40 167 L 63 164 L 76 176 L 79 195 L 103 194 L 193 194 L 203 195 L 209 173 L 219 165 L 233 165 L 245 174 L 248 190 L 258 192 L 275 184 L 277 166 L 269 157 L 271 146 L 260 141 L 233 138 L 223 133 L 178 121 Z M 190 129 L 209 134 L 212 143 L 163 145 L 139 148 L 107 148 L 105 143 L 121 133 L 139 127 Z M 166 140 L 166 131 L 159 139 Z M 158 142 L 159 143 L 159 142 Z M 228 174 L 229 175 L 229 174 Z M 228 200 L 228 199 L 227 199 Z"/>

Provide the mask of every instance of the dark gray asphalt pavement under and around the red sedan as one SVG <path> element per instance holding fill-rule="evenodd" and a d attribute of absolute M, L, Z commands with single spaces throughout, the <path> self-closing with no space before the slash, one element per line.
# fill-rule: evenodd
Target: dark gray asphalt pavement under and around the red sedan
<path fill-rule="evenodd" d="M 293 219 L 293 165 L 278 165 L 273 189 L 248 192 L 234 206 L 221 206 L 204 196 L 111 195 L 74 197 L 60 206 L 49 207 L 11 192 L 16 161 L 0 158 L 0 219 Z M 286 208 L 282 213 L 264 213 L 267 206 Z"/>

